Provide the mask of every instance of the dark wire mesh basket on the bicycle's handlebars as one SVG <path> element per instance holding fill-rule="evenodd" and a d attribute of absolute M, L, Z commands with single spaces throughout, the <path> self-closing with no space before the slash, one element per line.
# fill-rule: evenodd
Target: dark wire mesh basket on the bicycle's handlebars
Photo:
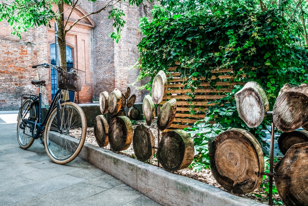
<path fill-rule="evenodd" d="M 74 68 L 66 66 L 59 67 L 58 88 L 72 91 L 80 91 L 86 73 L 78 69 L 74 69 L 76 72 L 73 74 L 65 72 L 70 71 L 71 69 Z"/>

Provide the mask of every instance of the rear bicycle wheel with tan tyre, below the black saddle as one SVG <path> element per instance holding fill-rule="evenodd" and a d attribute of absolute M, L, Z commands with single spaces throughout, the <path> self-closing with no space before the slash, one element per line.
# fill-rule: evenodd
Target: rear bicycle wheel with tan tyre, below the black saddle
<path fill-rule="evenodd" d="M 29 128 L 29 124 L 25 124 L 22 122 L 23 119 L 28 119 L 30 116 L 36 117 L 36 109 L 29 107 L 33 102 L 32 99 L 28 98 L 20 107 L 17 117 L 17 140 L 19 147 L 22 149 L 28 149 L 34 142 L 32 138 L 32 130 Z M 27 127 L 29 126 L 29 127 Z"/>

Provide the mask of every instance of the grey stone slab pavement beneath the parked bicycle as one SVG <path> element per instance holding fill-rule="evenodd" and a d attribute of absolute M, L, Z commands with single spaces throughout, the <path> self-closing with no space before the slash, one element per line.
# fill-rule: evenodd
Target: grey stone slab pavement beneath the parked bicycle
<path fill-rule="evenodd" d="M 35 140 L 21 149 L 18 111 L 0 111 L 0 205 L 160 205 L 77 157 L 53 163 Z"/>

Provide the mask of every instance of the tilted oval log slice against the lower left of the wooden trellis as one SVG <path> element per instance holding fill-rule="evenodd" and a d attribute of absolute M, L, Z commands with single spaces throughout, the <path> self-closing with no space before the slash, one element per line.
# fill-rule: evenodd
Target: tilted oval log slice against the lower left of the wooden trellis
<path fill-rule="evenodd" d="M 168 128 L 176 114 L 176 100 L 170 99 L 168 102 L 164 103 L 164 105 L 160 108 L 158 116 L 157 116 L 157 128 L 160 131 Z"/>

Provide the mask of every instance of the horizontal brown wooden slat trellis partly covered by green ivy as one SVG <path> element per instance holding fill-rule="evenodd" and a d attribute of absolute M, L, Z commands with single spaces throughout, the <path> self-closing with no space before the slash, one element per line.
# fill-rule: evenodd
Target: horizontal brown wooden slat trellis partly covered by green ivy
<path fill-rule="evenodd" d="M 232 69 L 220 69 L 212 71 L 212 78 L 209 80 L 207 78 L 200 79 L 200 86 L 195 88 L 194 92 L 190 89 L 184 89 L 184 81 L 187 78 L 181 78 L 180 73 L 172 72 L 176 70 L 177 67 L 170 67 L 168 71 L 168 91 L 164 96 L 163 101 L 160 105 L 163 105 L 168 100 L 175 98 L 176 101 L 176 118 L 171 124 L 171 126 L 165 129 L 163 132 L 168 132 L 175 128 L 184 129 L 189 125 L 194 124 L 197 120 L 204 119 L 206 110 L 209 106 L 215 105 L 214 101 L 217 101 L 225 96 L 227 93 L 233 90 L 234 85 L 243 85 L 244 82 L 235 82 L 233 76 L 230 75 Z M 245 74 L 242 75 L 245 77 Z M 214 86 L 210 85 L 211 80 L 219 78 Z M 217 89 L 216 87 L 220 88 Z M 192 93 L 194 99 L 189 96 Z"/>

